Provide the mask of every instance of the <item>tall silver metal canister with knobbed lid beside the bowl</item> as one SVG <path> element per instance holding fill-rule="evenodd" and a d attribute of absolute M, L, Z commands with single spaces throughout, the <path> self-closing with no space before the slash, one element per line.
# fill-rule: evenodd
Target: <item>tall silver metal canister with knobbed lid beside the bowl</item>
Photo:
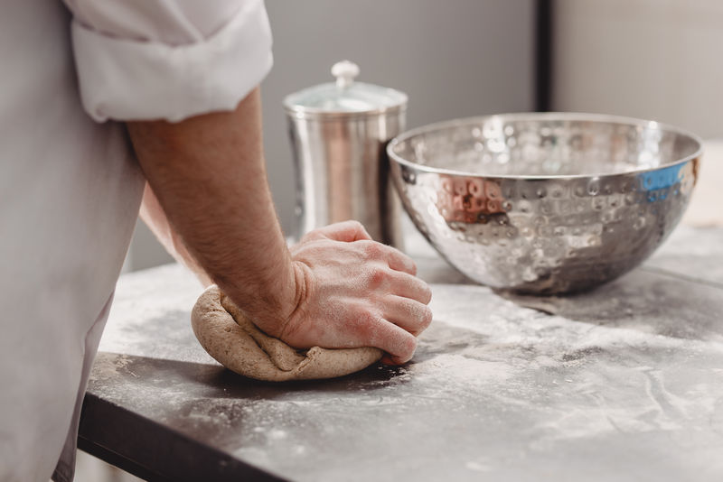
<path fill-rule="evenodd" d="M 355 219 L 375 240 L 401 247 L 386 144 L 404 130 L 407 95 L 356 82 L 358 74 L 356 64 L 338 62 L 335 82 L 284 99 L 296 168 L 296 234 Z"/>

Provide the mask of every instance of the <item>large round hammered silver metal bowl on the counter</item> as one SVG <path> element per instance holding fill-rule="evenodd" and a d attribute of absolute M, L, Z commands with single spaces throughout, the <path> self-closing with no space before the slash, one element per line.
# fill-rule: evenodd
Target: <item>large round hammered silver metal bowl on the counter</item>
<path fill-rule="evenodd" d="M 540 113 L 427 125 L 387 152 L 404 208 L 450 264 L 496 289 L 554 294 L 613 280 L 661 245 L 701 143 L 653 121 Z"/>

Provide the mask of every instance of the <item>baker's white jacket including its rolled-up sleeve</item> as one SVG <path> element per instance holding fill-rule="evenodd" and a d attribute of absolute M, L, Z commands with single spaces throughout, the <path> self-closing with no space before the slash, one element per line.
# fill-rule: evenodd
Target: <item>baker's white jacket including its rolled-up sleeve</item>
<path fill-rule="evenodd" d="M 263 0 L 0 5 L 0 481 L 73 476 L 144 185 L 115 121 L 231 110 L 271 63 Z"/>

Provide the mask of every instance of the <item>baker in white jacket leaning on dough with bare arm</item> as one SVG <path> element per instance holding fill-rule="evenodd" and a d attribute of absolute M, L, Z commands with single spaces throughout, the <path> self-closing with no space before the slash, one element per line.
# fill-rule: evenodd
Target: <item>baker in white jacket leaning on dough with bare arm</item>
<path fill-rule="evenodd" d="M 73 477 L 136 216 L 268 335 L 413 354 L 408 256 L 356 222 L 290 252 L 266 179 L 262 0 L 26 0 L 0 16 L 0 480 Z"/>

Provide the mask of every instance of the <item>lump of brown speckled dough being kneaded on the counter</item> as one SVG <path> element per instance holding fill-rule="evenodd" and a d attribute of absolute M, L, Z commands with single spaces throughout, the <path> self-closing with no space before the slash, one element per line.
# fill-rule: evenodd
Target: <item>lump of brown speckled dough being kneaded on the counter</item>
<path fill-rule="evenodd" d="M 291 348 L 251 323 L 218 286 L 193 307 L 193 333 L 211 357 L 239 375 L 284 382 L 358 372 L 381 358 L 378 348 Z"/>

